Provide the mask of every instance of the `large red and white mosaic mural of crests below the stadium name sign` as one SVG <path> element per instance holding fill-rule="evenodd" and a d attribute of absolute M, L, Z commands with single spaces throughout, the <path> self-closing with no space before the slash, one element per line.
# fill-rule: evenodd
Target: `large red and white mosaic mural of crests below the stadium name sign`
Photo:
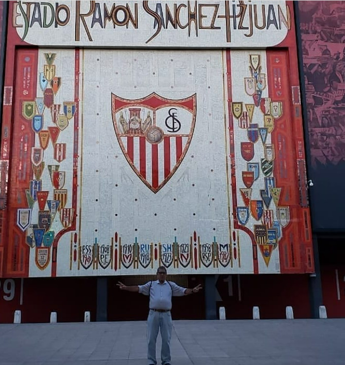
<path fill-rule="evenodd" d="M 313 272 L 294 52 L 15 49 L 6 275 Z"/>

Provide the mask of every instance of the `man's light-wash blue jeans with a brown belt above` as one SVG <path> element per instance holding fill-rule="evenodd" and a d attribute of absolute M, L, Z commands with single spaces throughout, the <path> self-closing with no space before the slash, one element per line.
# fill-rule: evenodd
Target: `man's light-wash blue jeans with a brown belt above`
<path fill-rule="evenodd" d="M 170 356 L 170 339 L 172 330 L 171 313 L 170 312 L 159 313 L 150 310 L 149 317 L 147 319 L 148 365 L 157 364 L 156 341 L 159 330 L 160 330 L 160 335 L 162 337 L 162 349 L 160 353 L 160 358 L 162 360 L 162 365 L 165 365 L 169 364 L 171 361 L 171 356 Z"/>

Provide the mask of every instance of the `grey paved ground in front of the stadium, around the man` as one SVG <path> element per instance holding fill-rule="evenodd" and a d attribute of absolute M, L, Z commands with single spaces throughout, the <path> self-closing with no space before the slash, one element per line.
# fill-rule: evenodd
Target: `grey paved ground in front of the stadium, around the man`
<path fill-rule="evenodd" d="M 171 365 L 344 365 L 345 319 L 174 321 L 171 355 Z M 0 325 L 0 365 L 24 364 L 147 365 L 146 323 Z"/>

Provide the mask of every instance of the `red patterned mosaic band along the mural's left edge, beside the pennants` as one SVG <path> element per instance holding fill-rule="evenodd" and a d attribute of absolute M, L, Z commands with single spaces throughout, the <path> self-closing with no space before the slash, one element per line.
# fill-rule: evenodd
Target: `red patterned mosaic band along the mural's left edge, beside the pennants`
<path fill-rule="evenodd" d="M 20 48 L 15 52 L 15 92 L 14 109 L 12 120 L 13 146 L 20 148 L 10 149 L 8 193 L 8 247 L 6 268 L 7 275 L 16 277 L 18 275 L 28 276 L 29 271 L 29 247 L 25 244 L 25 233 L 16 225 L 17 209 L 27 208 L 25 189 L 28 188 L 32 179 L 31 147 L 34 146 L 34 132 L 31 123 L 22 116 L 22 102 L 34 100 L 37 89 L 37 63 L 38 48 Z M 28 82 L 28 87 L 23 90 L 23 80 Z M 18 77 L 19 76 L 19 77 Z M 24 203 L 24 205 L 23 205 Z M 18 267 L 19 265 L 19 267 Z"/>

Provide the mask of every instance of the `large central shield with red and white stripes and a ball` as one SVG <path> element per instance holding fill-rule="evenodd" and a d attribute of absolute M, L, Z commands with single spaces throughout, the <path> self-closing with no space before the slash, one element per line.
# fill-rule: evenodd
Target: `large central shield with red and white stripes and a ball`
<path fill-rule="evenodd" d="M 186 156 L 195 127 L 196 94 L 179 100 L 156 93 L 135 100 L 112 94 L 112 114 L 129 165 L 157 193 Z"/>

